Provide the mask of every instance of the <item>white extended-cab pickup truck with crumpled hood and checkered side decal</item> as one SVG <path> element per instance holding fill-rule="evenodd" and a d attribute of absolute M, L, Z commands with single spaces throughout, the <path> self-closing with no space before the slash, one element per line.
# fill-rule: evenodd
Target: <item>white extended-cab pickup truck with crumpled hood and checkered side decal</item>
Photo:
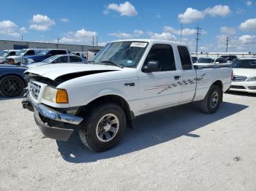
<path fill-rule="evenodd" d="M 156 39 L 111 42 L 89 64 L 54 64 L 25 71 L 23 108 L 45 136 L 67 141 L 78 128 L 89 149 L 114 147 L 140 114 L 200 101 L 214 113 L 232 69 L 193 66 L 186 44 Z M 68 128 L 69 127 L 69 128 Z"/>

